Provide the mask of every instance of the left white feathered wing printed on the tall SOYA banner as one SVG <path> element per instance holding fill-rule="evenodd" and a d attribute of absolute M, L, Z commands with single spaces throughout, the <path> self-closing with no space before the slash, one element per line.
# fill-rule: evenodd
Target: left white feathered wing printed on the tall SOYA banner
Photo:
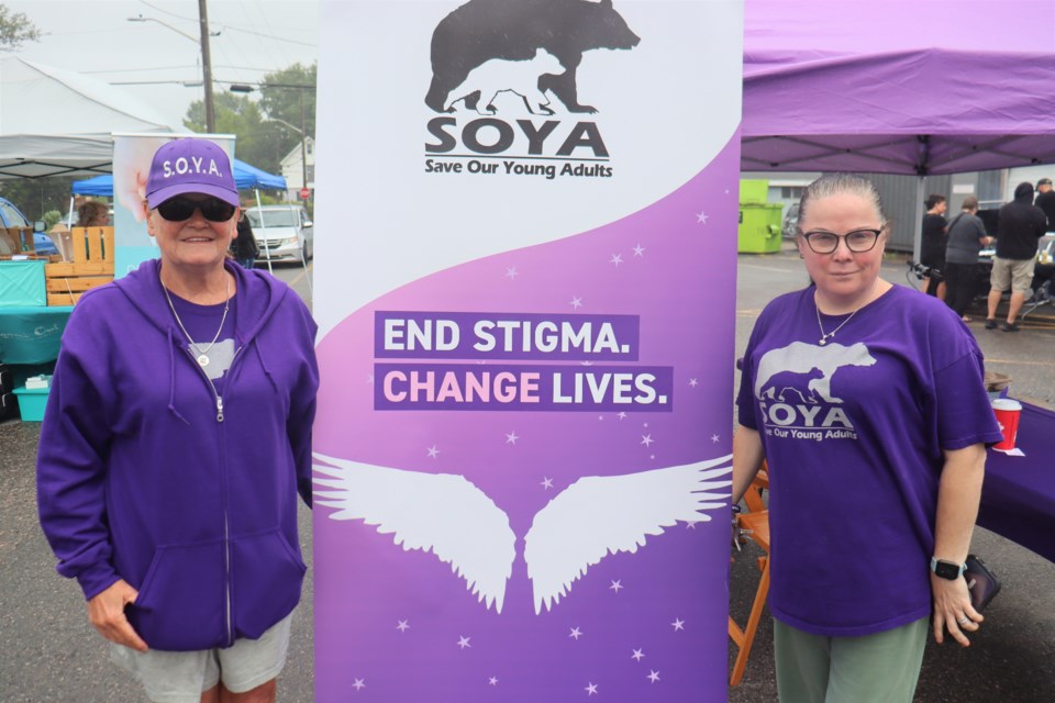
<path fill-rule="evenodd" d="M 313 456 L 331 465 L 316 461 L 313 468 L 315 502 L 336 509 L 332 520 L 362 520 L 392 534 L 406 550 L 432 551 L 465 579 L 478 601 L 502 612 L 517 536 L 509 516 L 480 489 L 452 473 Z"/>

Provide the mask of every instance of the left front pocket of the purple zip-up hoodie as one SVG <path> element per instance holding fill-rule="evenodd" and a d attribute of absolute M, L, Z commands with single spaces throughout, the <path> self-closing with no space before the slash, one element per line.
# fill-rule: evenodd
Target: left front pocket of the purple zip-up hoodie
<path fill-rule="evenodd" d="M 226 641 L 223 545 L 158 547 L 130 609 L 152 649 L 207 649 Z"/>

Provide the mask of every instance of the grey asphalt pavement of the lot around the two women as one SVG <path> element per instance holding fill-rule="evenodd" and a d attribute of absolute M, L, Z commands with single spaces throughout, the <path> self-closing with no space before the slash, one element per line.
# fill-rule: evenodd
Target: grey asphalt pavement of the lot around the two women
<path fill-rule="evenodd" d="M 891 257 L 882 275 L 909 284 L 907 270 L 903 258 Z M 292 266 L 275 272 L 310 301 L 310 266 L 307 275 Z M 766 302 L 804 286 L 807 279 L 787 245 L 777 254 L 741 255 L 737 272 L 736 350 L 742 354 Z M 974 313 L 985 317 L 984 310 Z M 980 323 L 970 328 L 987 369 L 1011 376 L 1017 397 L 1055 406 L 1055 309 L 1041 309 L 1014 334 L 986 331 Z M 137 684 L 110 663 L 106 644 L 88 624 L 79 589 L 55 573 L 36 520 L 38 438 L 40 423 L 0 424 L 0 703 L 142 701 Z M 309 576 L 295 615 L 289 661 L 279 679 L 279 701 L 286 703 L 313 700 L 310 511 L 301 506 L 299 517 Z M 1055 702 L 1055 563 L 982 528 L 975 531 L 973 551 L 999 573 L 1003 590 L 986 611 L 986 623 L 971 647 L 928 644 L 915 700 Z M 746 620 L 754 598 L 758 554 L 748 545 L 731 565 L 730 609 L 740 622 Z M 771 637 L 766 612 L 744 680 L 729 690 L 732 703 L 777 700 Z M 734 657 L 731 647 L 730 668 Z"/>

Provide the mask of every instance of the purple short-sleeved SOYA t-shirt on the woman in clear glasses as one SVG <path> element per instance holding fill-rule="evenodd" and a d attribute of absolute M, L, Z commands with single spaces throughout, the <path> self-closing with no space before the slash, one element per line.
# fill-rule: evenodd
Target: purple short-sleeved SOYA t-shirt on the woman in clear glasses
<path fill-rule="evenodd" d="M 740 423 L 769 462 L 769 610 L 823 636 L 931 612 L 943 449 L 1001 438 L 975 338 L 895 286 L 820 345 L 812 287 L 774 300 L 744 356 Z M 832 332 L 846 315 L 821 316 Z"/>

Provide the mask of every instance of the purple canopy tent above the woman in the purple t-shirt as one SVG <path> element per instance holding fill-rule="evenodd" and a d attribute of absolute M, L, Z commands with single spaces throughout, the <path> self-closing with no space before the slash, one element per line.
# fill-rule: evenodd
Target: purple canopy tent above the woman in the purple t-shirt
<path fill-rule="evenodd" d="M 745 171 L 914 175 L 922 208 L 928 175 L 1055 164 L 1053 0 L 746 0 L 744 27 Z"/>

